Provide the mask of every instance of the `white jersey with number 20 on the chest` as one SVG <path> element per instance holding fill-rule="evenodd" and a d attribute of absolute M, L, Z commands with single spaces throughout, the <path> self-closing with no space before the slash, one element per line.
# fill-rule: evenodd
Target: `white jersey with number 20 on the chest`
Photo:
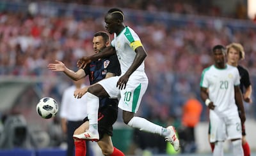
<path fill-rule="evenodd" d="M 214 112 L 225 116 L 237 114 L 234 86 L 239 84 L 237 67 L 227 64 L 225 69 L 218 69 L 212 65 L 202 72 L 200 87 L 208 89 L 209 99 L 216 106 Z"/>

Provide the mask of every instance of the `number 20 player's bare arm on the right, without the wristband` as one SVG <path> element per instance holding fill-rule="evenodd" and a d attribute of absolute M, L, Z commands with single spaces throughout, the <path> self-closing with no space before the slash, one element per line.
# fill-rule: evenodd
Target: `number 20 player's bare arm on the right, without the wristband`
<path fill-rule="evenodd" d="M 235 99 L 236 99 L 236 105 L 238 107 L 238 110 L 241 111 L 241 114 L 240 114 L 241 122 L 244 123 L 246 118 L 244 113 L 243 96 L 239 86 L 235 86 Z"/>

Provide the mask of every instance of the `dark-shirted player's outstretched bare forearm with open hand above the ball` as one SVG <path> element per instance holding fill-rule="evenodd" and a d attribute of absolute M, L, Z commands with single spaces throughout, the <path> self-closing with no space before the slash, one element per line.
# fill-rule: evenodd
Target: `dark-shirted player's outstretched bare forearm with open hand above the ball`
<path fill-rule="evenodd" d="M 55 60 L 55 64 L 48 64 L 48 69 L 54 72 L 64 72 L 68 77 L 72 78 L 72 80 L 80 80 L 85 76 L 84 70 L 79 69 L 78 71 L 74 72 L 71 69 L 68 69 L 68 67 L 65 66 L 65 64 L 59 60 Z"/>

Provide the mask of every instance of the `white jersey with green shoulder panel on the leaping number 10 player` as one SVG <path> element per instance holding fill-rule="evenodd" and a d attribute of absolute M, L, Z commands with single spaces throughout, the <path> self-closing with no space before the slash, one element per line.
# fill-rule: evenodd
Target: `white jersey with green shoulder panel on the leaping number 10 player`
<path fill-rule="evenodd" d="M 140 41 L 140 38 L 138 34 L 128 26 L 126 26 L 118 36 L 116 36 L 115 33 L 114 39 L 111 41 L 111 45 L 116 49 L 116 55 L 120 62 L 122 74 L 129 69 L 136 55 L 131 45 L 134 41 Z M 145 72 L 144 66 L 143 61 L 136 71 L 140 73 Z M 136 71 L 134 71 L 134 73 L 137 73 Z"/>

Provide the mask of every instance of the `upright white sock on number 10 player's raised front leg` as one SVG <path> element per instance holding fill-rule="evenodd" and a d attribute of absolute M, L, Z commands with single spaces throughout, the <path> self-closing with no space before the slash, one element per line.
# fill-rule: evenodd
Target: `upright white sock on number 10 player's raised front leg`
<path fill-rule="evenodd" d="M 89 120 L 88 131 L 97 133 L 98 132 L 98 110 L 99 110 L 99 97 L 94 96 L 90 92 L 86 92 L 87 101 L 87 115 Z"/>

